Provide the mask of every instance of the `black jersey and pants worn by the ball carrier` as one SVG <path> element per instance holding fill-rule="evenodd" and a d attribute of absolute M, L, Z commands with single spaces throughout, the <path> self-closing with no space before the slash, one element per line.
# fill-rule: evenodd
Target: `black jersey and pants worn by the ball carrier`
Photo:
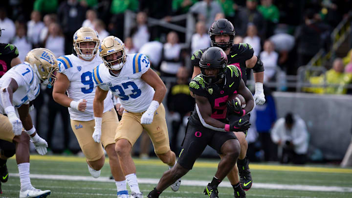
<path fill-rule="evenodd" d="M 229 96 L 239 88 L 241 82 L 240 70 L 236 66 L 227 66 L 223 80 L 221 84 L 206 85 L 199 74 L 193 78 L 189 87 L 194 94 L 208 98 L 212 108 L 212 118 L 228 123 L 226 120 L 226 103 Z M 199 116 L 196 107 L 189 118 L 186 136 L 177 161 L 186 169 L 192 169 L 196 159 L 207 145 L 221 154 L 221 146 L 227 140 L 237 139 L 233 132 L 220 132 L 204 127 L 201 123 L 202 118 Z"/>

